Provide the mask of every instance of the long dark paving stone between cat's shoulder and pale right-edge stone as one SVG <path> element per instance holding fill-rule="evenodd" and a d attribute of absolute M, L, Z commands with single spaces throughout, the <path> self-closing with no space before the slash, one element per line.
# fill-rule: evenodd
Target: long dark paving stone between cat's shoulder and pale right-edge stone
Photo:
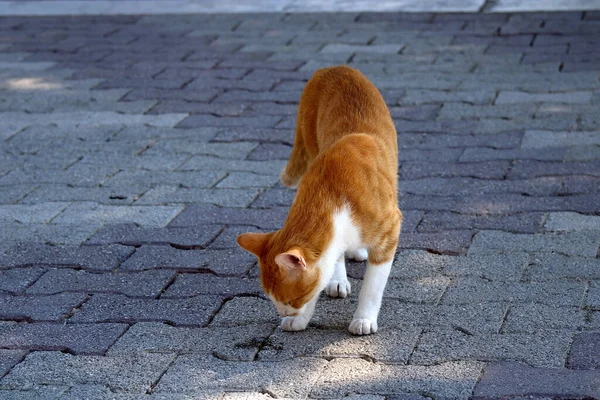
<path fill-rule="evenodd" d="M 419 232 L 445 230 L 502 230 L 514 233 L 538 233 L 545 219 L 543 213 L 515 215 L 465 215 L 453 212 L 428 212 L 419 223 Z"/>

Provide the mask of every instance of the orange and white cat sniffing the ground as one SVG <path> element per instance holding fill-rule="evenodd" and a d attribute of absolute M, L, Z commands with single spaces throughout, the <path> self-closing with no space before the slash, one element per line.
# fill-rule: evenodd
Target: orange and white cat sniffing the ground
<path fill-rule="evenodd" d="M 286 331 L 304 330 L 319 293 L 350 294 L 344 254 L 367 259 L 349 330 L 377 332 L 377 316 L 398 244 L 396 130 L 377 88 L 359 71 L 318 70 L 300 99 L 296 137 L 281 181 L 298 187 L 281 229 L 244 233 L 262 286 Z"/>

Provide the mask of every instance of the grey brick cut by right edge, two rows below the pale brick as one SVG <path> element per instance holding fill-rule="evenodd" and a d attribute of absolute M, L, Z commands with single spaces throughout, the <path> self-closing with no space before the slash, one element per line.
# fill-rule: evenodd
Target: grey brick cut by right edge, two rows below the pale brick
<path fill-rule="evenodd" d="M 553 253 L 534 254 L 525 278 L 532 281 L 600 279 L 600 260 Z"/>

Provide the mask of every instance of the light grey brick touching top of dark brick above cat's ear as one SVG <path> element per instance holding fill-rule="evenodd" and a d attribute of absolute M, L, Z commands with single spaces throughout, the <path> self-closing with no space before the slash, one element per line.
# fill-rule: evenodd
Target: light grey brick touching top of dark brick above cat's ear
<path fill-rule="evenodd" d="M 144 193 L 136 204 L 208 203 L 223 207 L 247 207 L 258 193 L 259 191 L 256 188 L 197 189 L 161 185 Z M 179 212 L 180 209 L 177 211 Z"/>

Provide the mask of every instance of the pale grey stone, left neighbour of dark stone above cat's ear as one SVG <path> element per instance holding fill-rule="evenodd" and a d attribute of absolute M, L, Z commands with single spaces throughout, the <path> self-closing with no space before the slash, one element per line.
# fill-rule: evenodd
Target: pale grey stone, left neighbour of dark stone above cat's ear
<path fill-rule="evenodd" d="M 183 209 L 181 206 L 106 206 L 97 203 L 74 203 L 53 222 L 56 224 L 131 222 L 142 226 L 165 226 Z"/>

